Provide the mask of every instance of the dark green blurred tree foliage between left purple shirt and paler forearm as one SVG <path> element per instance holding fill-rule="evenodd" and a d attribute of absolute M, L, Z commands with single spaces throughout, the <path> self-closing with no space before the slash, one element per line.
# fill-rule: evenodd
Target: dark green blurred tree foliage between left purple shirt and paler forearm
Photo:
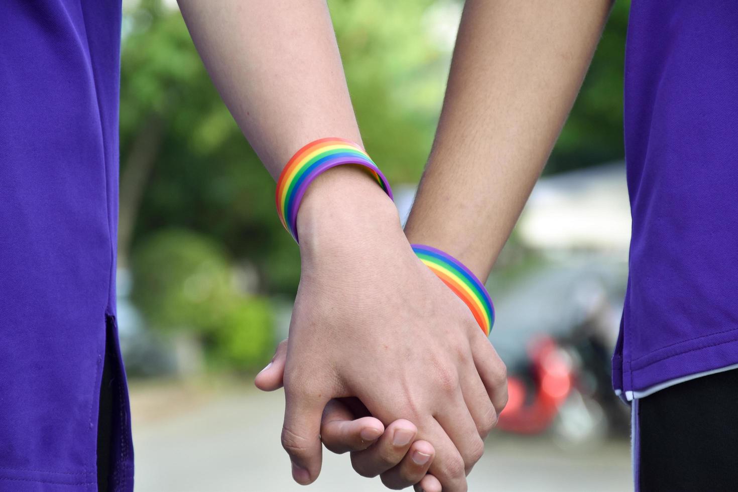
<path fill-rule="evenodd" d="M 162 227 L 203 232 L 258 265 L 266 291 L 293 291 L 299 254 L 274 210 L 274 181 L 210 82 L 182 16 L 156 1 L 125 16 L 121 173 L 139 132 L 162 121 L 132 248 Z"/>

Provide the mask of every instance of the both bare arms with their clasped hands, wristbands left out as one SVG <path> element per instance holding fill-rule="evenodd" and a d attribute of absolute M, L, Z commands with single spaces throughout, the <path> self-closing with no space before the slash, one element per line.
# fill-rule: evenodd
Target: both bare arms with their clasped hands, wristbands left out
<path fill-rule="evenodd" d="M 405 232 L 376 167 L 382 187 L 350 165 L 297 179 L 299 215 L 297 204 L 277 198 L 290 232 L 300 232 L 300 286 L 289 340 L 256 384 L 284 386 L 282 443 L 297 482 L 320 473 L 322 438 L 390 488 L 466 490 L 506 403 L 505 366 L 479 328 L 483 306 L 465 305 L 463 285 L 444 285 L 407 238 L 486 278 L 561 131 L 611 3 L 466 0 Z M 305 142 L 361 142 L 325 1 L 179 5 L 272 176 Z"/>

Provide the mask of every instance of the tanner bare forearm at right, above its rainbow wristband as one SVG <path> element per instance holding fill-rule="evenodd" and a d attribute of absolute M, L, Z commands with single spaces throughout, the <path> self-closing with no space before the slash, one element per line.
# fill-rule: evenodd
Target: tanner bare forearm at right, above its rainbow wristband
<path fill-rule="evenodd" d="M 609 0 L 467 0 L 405 232 L 486 279 L 582 85 Z"/>

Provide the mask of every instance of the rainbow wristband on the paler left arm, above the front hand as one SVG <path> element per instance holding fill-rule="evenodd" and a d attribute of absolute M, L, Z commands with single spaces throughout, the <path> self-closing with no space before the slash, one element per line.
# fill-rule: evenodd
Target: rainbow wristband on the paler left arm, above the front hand
<path fill-rule="evenodd" d="M 289 159 L 277 180 L 277 215 L 295 241 L 297 241 L 297 210 L 300 209 L 300 202 L 309 184 L 320 173 L 342 164 L 365 167 L 384 193 L 392 198 L 389 182 L 359 145 L 351 140 L 338 138 L 310 142 Z"/>

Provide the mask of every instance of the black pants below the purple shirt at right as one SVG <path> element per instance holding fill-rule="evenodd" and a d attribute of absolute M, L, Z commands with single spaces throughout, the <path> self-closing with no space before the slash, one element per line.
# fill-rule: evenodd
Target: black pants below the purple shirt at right
<path fill-rule="evenodd" d="M 641 492 L 738 491 L 738 370 L 638 401 Z"/>

